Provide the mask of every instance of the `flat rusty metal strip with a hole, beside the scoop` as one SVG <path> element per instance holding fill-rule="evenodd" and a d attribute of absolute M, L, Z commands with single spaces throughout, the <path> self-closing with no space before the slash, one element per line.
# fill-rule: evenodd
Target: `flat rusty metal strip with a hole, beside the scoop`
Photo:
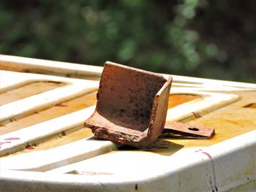
<path fill-rule="evenodd" d="M 178 139 L 211 139 L 214 137 L 214 128 L 197 125 L 195 123 L 172 122 L 166 123 L 161 137 Z"/>

